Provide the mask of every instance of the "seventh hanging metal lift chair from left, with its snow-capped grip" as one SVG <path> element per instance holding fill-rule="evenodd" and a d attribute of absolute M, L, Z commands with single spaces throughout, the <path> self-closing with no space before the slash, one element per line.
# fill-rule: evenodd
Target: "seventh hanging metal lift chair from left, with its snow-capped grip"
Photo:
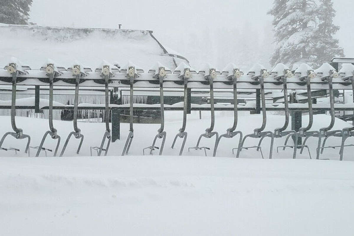
<path fill-rule="evenodd" d="M 188 89 L 188 79 L 192 77 L 192 74 L 196 74 L 196 71 L 184 62 L 181 62 L 181 64 L 176 67 L 175 71 L 173 71 L 173 74 L 178 74 L 179 78 L 184 80 L 184 97 L 183 97 L 183 124 L 182 128 L 179 129 L 179 133 L 176 134 L 175 139 L 172 142 L 171 148 L 175 146 L 177 137 L 180 137 L 183 139 L 181 150 L 179 151 L 179 156 L 182 156 L 182 152 L 184 149 L 185 141 L 187 140 L 187 132 L 185 132 L 185 125 L 187 122 L 187 103 L 188 103 L 188 94 L 187 94 L 187 89 Z"/>

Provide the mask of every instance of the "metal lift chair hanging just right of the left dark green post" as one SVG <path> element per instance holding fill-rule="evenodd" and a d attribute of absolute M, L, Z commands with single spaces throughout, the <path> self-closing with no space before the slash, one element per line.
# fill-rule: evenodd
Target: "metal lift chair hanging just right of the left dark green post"
<path fill-rule="evenodd" d="M 133 141 L 134 137 L 134 130 L 133 130 L 133 85 L 134 85 L 134 78 L 139 77 L 139 73 L 144 73 L 143 69 L 136 67 L 132 62 L 128 62 L 128 64 L 120 70 L 121 73 L 125 73 L 126 77 L 129 78 L 130 84 L 130 128 L 129 134 L 127 137 L 127 141 L 125 142 L 122 156 L 128 154 L 130 145 Z"/>

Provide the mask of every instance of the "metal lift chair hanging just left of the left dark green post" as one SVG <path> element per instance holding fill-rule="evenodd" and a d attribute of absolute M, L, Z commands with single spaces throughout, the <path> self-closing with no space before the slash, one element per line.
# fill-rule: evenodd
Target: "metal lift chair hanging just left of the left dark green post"
<path fill-rule="evenodd" d="M 101 68 L 95 69 L 95 72 L 101 73 L 101 77 L 104 78 L 104 100 L 105 100 L 105 112 L 104 112 L 104 121 L 106 124 L 106 131 L 104 132 L 101 145 L 99 147 L 90 147 L 90 154 L 92 156 L 92 150 L 97 152 L 97 156 L 101 156 L 102 151 L 104 151 L 104 156 L 107 156 L 108 148 L 110 141 L 112 139 L 110 128 L 109 128 L 109 91 L 108 91 L 108 83 L 109 78 L 114 76 L 114 71 L 118 71 L 118 68 L 114 68 L 114 66 L 110 65 L 106 61 L 103 61 L 103 66 Z M 107 145 L 103 148 L 104 142 L 107 139 Z"/>

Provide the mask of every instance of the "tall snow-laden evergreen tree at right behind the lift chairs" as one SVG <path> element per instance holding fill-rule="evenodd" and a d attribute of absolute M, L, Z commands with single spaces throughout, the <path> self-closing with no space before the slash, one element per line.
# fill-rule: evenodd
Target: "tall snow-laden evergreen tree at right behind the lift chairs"
<path fill-rule="evenodd" d="M 333 38 L 339 27 L 333 24 L 332 0 L 274 0 L 268 14 L 274 16 L 276 43 L 270 64 L 306 62 L 319 66 L 332 57 L 344 56 Z"/>

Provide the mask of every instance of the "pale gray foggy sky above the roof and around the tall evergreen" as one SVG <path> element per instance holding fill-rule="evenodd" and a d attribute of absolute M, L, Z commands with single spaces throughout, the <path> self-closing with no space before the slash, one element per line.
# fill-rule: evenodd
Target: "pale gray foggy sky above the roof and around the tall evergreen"
<path fill-rule="evenodd" d="M 41 26 L 99 27 L 153 30 L 162 44 L 189 58 L 192 66 L 228 62 L 247 67 L 269 66 L 273 51 L 273 1 L 115 1 L 34 0 L 30 21 Z M 49 7 L 52 7 L 48 11 Z M 346 56 L 354 56 L 354 2 L 335 0 L 336 37 Z"/>

